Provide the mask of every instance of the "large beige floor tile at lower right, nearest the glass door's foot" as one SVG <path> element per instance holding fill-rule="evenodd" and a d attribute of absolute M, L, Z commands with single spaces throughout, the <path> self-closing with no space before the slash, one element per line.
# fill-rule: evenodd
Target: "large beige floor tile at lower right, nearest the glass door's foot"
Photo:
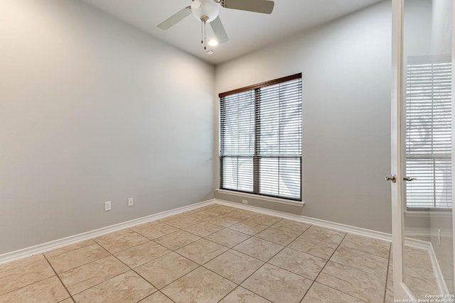
<path fill-rule="evenodd" d="M 328 261 L 316 282 L 367 302 L 380 303 L 384 300 L 385 277 L 380 278 L 340 263 Z"/>

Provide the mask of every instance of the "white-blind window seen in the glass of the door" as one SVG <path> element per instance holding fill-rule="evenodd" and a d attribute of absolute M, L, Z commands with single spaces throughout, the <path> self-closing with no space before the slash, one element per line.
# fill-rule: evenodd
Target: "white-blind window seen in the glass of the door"
<path fill-rule="evenodd" d="M 408 209 L 451 209 L 451 58 L 410 57 L 406 72 Z"/>

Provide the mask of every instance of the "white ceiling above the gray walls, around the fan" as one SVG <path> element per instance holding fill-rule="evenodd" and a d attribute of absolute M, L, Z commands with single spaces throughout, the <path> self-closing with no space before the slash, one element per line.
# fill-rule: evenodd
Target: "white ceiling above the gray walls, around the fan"
<path fill-rule="evenodd" d="M 156 26 L 169 16 L 191 5 L 191 0 L 82 0 L 120 20 L 135 26 L 154 38 L 200 57 L 213 64 L 295 35 L 308 28 L 358 11 L 381 0 L 274 0 L 271 15 L 220 9 L 220 18 L 230 40 L 207 55 L 200 44 L 200 22 L 188 16 L 168 31 Z M 247 0 L 245 0 L 247 1 Z M 213 38 L 207 26 L 207 38 Z"/>

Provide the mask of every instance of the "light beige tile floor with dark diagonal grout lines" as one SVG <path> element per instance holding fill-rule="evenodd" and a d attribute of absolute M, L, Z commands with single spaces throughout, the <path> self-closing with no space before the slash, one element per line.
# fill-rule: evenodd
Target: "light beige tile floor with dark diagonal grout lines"
<path fill-rule="evenodd" d="M 383 303 L 391 275 L 385 241 L 212 204 L 0 265 L 0 302 Z"/>

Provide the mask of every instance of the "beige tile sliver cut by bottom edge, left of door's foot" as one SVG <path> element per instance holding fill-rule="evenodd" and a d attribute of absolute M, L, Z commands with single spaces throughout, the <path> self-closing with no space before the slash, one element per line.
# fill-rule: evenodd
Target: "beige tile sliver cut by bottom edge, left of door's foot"
<path fill-rule="evenodd" d="M 304 300 L 301 303 L 321 302 L 364 303 L 365 301 L 315 282 L 311 286 L 310 290 L 305 294 Z"/>

